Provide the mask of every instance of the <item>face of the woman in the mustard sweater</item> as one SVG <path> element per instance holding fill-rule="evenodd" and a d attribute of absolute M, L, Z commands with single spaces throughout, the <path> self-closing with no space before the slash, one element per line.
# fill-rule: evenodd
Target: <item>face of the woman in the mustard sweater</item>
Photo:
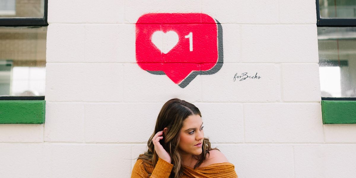
<path fill-rule="evenodd" d="M 182 155 L 200 155 L 203 145 L 204 131 L 203 120 L 197 115 L 190 115 L 183 122 L 180 129 L 178 148 Z"/>

